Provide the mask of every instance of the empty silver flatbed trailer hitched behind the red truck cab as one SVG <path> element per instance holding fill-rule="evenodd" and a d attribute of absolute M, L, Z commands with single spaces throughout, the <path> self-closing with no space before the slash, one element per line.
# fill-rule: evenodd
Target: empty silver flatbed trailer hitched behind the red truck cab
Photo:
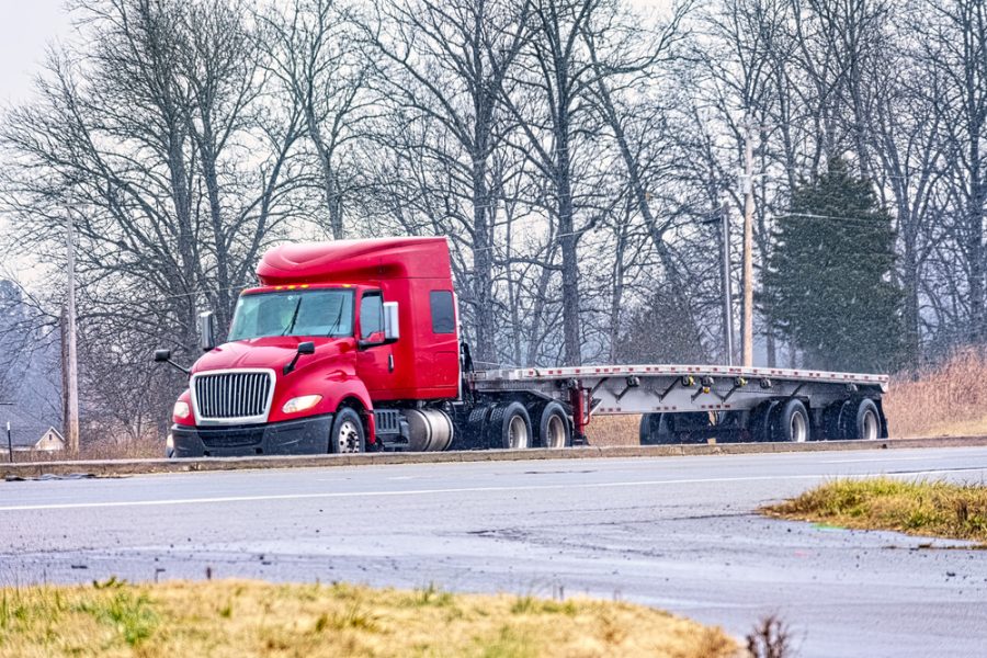
<path fill-rule="evenodd" d="M 486 413 L 515 401 L 530 417 L 541 416 L 554 401 L 567 411 L 575 444 L 586 442 L 586 429 L 595 416 L 638 413 L 643 444 L 713 438 L 874 440 L 887 436 L 882 406 L 887 385 L 886 375 L 724 365 L 481 371 L 467 375 L 470 413 L 461 424 L 467 443 L 470 438 L 476 442 L 489 439 L 488 428 L 481 427 L 489 422 L 483 420 Z M 545 446 L 561 446 L 541 439 Z M 510 436 L 504 442 L 504 447 L 517 447 Z"/>

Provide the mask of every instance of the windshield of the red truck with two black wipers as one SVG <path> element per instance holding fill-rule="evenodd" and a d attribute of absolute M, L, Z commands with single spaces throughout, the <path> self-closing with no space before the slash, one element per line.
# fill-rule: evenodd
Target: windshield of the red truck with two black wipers
<path fill-rule="evenodd" d="M 353 336 L 353 291 L 333 288 L 240 296 L 229 340 L 262 336 Z"/>

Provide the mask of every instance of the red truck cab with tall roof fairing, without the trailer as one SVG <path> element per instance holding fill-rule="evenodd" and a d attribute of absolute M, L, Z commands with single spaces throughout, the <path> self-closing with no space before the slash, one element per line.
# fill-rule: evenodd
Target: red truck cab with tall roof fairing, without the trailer
<path fill-rule="evenodd" d="M 447 447 L 461 362 L 445 238 L 284 245 L 257 274 L 189 372 L 174 456 Z"/>

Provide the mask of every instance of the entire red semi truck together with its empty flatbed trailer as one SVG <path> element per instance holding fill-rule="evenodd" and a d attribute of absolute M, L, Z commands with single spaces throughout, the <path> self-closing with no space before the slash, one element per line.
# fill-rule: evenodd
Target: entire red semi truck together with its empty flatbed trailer
<path fill-rule="evenodd" d="M 174 405 L 177 457 L 561 449 L 594 415 L 642 443 L 887 435 L 883 375 L 690 365 L 475 371 L 445 238 L 277 247 Z M 167 350 L 156 361 L 171 362 Z M 172 365 L 175 365 L 172 363 Z M 181 366 L 178 366 L 181 367 Z M 184 370 L 184 368 L 182 368 Z"/>

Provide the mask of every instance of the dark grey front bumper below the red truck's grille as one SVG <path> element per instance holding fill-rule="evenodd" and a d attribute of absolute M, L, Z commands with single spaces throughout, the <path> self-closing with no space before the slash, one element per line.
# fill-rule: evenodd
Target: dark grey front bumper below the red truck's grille
<path fill-rule="evenodd" d="M 251 426 L 174 424 L 175 457 L 310 455 L 329 452 L 332 413 Z"/>

